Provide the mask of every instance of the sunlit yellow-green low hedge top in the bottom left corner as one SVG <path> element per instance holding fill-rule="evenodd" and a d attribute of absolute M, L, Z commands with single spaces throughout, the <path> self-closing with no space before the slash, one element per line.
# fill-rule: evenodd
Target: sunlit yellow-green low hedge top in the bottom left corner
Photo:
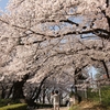
<path fill-rule="evenodd" d="M 0 110 L 26 110 L 28 105 L 26 103 L 18 103 L 18 105 L 10 105 L 0 108 Z"/>

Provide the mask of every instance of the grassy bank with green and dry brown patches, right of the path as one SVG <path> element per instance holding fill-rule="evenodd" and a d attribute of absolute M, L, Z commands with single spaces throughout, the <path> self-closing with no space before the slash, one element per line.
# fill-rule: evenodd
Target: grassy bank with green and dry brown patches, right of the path
<path fill-rule="evenodd" d="M 69 110 L 110 110 L 110 86 L 101 87 L 101 102 L 99 98 L 99 91 L 91 92 L 89 88 L 87 91 L 88 99 L 82 96 L 82 102 L 74 105 Z"/>

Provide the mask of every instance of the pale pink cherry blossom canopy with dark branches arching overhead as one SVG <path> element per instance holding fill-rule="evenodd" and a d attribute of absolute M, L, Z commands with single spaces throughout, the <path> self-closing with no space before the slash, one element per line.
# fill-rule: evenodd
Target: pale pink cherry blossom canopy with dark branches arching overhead
<path fill-rule="evenodd" d="M 67 91 L 86 67 L 105 67 L 109 78 L 109 0 L 9 0 L 0 14 L 0 74 L 21 82 L 30 73 L 32 99 L 47 81 Z"/>

